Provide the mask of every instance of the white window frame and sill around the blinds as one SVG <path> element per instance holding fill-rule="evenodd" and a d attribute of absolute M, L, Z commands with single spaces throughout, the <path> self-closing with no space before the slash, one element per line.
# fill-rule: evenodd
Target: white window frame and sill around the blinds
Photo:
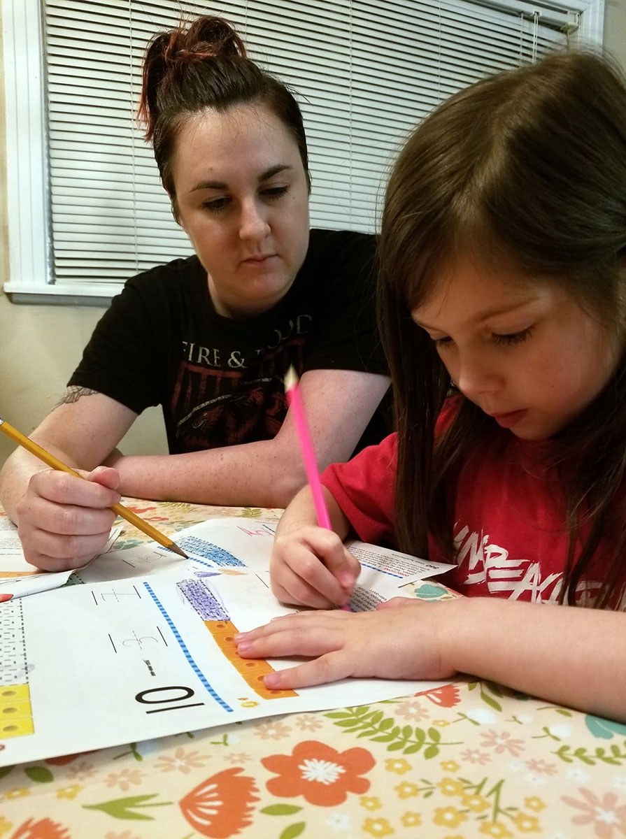
<path fill-rule="evenodd" d="M 532 14 L 541 3 L 494 0 L 493 5 Z M 550 0 L 545 5 L 571 13 L 577 40 L 602 45 L 604 0 Z M 78 289 L 52 277 L 40 0 L 3 0 L 2 18 L 9 254 L 3 289 L 16 303 L 107 305 L 116 293 L 110 285 L 89 282 Z"/>

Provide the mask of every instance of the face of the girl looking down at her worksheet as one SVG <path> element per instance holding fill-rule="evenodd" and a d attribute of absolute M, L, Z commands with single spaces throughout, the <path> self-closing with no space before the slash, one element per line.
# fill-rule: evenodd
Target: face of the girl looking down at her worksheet
<path fill-rule="evenodd" d="M 558 284 L 460 259 L 412 316 L 461 393 L 523 440 L 544 440 L 591 403 L 618 346 Z"/>

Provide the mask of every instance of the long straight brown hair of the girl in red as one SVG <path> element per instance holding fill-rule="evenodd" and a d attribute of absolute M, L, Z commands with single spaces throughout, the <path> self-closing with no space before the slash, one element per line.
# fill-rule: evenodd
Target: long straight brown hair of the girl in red
<path fill-rule="evenodd" d="M 451 381 L 410 313 L 428 299 L 444 264 L 468 249 L 483 263 L 514 263 L 529 283 L 561 284 L 624 347 L 626 84 L 608 60 L 551 55 L 457 93 L 415 130 L 389 180 L 378 313 L 396 400 L 396 532 L 402 550 L 422 556 L 430 533 L 451 559 L 455 482 L 494 425 L 462 399 L 434 445 Z M 553 441 L 548 466 L 567 475 L 569 558 L 561 601 L 575 602 L 605 536 L 614 559 L 596 605 L 606 606 L 619 599 L 626 564 L 623 350 L 607 387 Z"/>

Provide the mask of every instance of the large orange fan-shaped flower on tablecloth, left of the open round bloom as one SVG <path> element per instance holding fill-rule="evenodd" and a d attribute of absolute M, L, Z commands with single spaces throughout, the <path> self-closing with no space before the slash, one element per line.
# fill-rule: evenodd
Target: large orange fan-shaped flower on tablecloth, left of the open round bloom
<path fill-rule="evenodd" d="M 211 775 L 180 800 L 183 816 L 202 836 L 227 839 L 251 823 L 257 788 L 252 778 L 240 772 L 242 767 Z"/>

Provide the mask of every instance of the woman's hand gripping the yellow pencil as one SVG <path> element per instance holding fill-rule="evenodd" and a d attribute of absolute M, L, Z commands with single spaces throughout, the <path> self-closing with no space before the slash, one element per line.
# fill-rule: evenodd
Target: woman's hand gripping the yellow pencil
<path fill-rule="evenodd" d="M 80 568 L 106 545 L 116 519 L 111 507 L 120 500 L 119 475 L 107 466 L 81 475 L 44 470 L 30 477 L 16 512 L 31 565 L 44 571 Z"/>

